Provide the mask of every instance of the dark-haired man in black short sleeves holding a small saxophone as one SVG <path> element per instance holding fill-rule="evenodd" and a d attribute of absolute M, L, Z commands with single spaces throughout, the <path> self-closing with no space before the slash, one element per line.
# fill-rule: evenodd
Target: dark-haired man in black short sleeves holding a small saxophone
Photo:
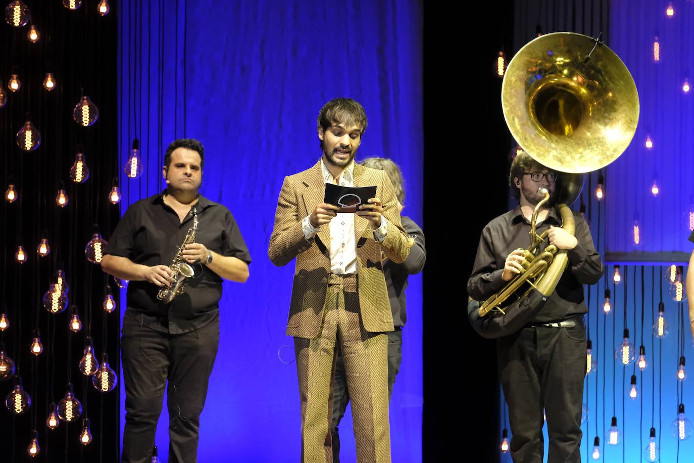
<path fill-rule="evenodd" d="M 197 140 L 169 144 L 162 169 L 166 190 L 130 205 L 101 262 L 104 271 L 130 280 L 121 338 L 123 462 L 151 461 L 167 381 L 169 461 L 196 461 L 200 414 L 219 344 L 221 282 L 248 278 L 251 256 L 234 217 L 198 192 L 204 160 Z M 185 244 L 191 232 L 194 242 Z M 171 262 L 190 264 L 195 275 L 165 304 L 157 296 L 171 285 Z"/>

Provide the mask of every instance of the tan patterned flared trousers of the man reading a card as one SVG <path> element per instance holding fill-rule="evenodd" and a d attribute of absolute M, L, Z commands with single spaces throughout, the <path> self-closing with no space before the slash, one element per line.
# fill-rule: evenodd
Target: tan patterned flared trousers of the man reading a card
<path fill-rule="evenodd" d="M 331 275 L 318 337 L 294 338 L 301 396 L 301 462 L 332 462 L 332 376 L 342 351 L 357 462 L 389 463 L 388 339 L 364 330 L 356 276 Z"/>

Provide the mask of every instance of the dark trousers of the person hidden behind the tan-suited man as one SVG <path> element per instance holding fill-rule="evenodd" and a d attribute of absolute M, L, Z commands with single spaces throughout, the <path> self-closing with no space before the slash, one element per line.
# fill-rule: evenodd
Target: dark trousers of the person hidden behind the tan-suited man
<path fill-rule="evenodd" d="M 400 371 L 400 361 L 403 359 L 403 331 L 396 330 L 388 332 L 388 401 L 393 395 L 393 384 L 395 377 Z M 332 396 L 332 463 L 340 461 L 340 436 L 338 426 L 340 420 L 345 415 L 347 404 L 349 403 L 349 391 L 347 388 L 347 375 L 342 354 L 339 353 L 335 363 L 335 379 L 333 382 Z"/>

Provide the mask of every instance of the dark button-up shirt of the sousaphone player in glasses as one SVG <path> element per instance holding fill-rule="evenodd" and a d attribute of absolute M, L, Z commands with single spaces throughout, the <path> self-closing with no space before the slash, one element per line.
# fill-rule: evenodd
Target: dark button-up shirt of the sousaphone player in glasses
<path fill-rule="evenodd" d="M 583 285 L 598 283 L 603 267 L 600 254 L 595 251 L 593 237 L 586 220 L 574 212 L 576 223 L 574 236 L 578 244 L 566 251 L 568 265 L 559 278 L 555 292 L 548 298 L 545 307 L 530 322 L 559 321 L 577 314 L 588 312 L 584 303 Z M 547 218 L 536 227 L 537 234 L 553 226 L 561 226 L 555 208 L 551 208 Z M 482 230 L 480 246 L 473 273 L 468 280 L 468 293 L 477 301 L 485 301 L 506 283 L 501 278 L 508 255 L 514 249 L 530 246 L 530 221 L 521 212 L 521 207 L 493 219 Z M 545 248 L 541 244 L 540 249 Z"/>

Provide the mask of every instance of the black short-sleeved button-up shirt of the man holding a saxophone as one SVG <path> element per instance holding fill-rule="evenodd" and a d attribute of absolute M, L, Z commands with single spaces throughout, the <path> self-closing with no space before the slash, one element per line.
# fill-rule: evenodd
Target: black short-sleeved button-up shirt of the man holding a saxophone
<path fill-rule="evenodd" d="M 227 208 L 202 195 L 194 207 L 198 214 L 196 243 L 215 253 L 251 262 L 239 227 Z M 163 194 L 155 194 L 130 205 L 113 231 L 105 254 L 119 255 L 149 267 L 171 265 L 192 226 L 192 214 L 182 223 L 176 211 L 164 204 Z M 203 264 L 192 264 L 192 267 L 195 275 L 187 278 L 183 294 L 169 305 L 158 300 L 160 287 L 153 283 L 128 283 L 126 316 L 137 317 L 145 326 L 171 334 L 196 330 L 217 319 L 222 279 Z"/>

